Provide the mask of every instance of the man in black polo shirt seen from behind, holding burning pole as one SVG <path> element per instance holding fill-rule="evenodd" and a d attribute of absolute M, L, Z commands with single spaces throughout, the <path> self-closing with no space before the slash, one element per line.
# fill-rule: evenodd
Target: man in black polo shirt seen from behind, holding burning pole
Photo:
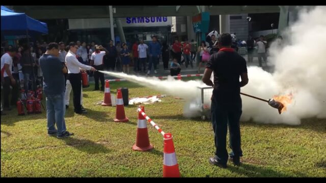
<path fill-rule="evenodd" d="M 223 168 L 226 168 L 228 161 L 227 125 L 232 149 L 230 158 L 235 165 L 240 164 L 240 156 L 242 156 L 239 124 L 242 113 L 240 87 L 248 83 L 246 60 L 231 48 L 231 44 L 230 34 L 223 33 L 219 37 L 220 50 L 211 55 L 203 76 L 203 82 L 214 87 L 211 113 L 216 153 L 209 162 Z M 214 83 L 210 80 L 212 72 L 214 72 Z"/>

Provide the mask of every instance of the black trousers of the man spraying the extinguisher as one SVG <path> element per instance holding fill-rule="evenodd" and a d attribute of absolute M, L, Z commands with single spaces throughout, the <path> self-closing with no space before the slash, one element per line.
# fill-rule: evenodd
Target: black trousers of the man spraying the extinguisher
<path fill-rule="evenodd" d="M 73 107 L 74 111 L 79 113 L 82 111 L 82 105 L 80 105 L 80 95 L 82 95 L 82 91 L 80 88 L 82 87 L 82 74 L 69 74 L 69 81 L 71 83 L 72 92 L 73 92 Z"/>

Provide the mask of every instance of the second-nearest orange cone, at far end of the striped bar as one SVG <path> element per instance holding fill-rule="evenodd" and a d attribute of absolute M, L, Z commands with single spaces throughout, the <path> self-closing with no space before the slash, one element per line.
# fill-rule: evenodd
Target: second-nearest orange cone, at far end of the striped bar
<path fill-rule="evenodd" d="M 145 112 L 144 106 L 141 106 L 142 111 Z M 153 145 L 149 143 L 147 120 L 139 112 L 138 113 L 138 125 L 137 125 L 137 137 L 136 143 L 132 146 L 132 150 L 146 151 L 153 149 Z"/>

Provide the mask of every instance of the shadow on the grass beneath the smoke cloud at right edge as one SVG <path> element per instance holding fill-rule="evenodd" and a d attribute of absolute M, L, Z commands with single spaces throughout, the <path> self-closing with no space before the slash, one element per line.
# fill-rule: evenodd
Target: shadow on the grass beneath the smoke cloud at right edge
<path fill-rule="evenodd" d="M 268 127 L 268 128 L 293 128 L 293 129 L 308 129 L 314 130 L 318 133 L 326 133 L 326 119 L 318 118 L 306 118 L 301 120 L 300 125 L 285 125 L 285 124 L 259 124 L 252 120 L 250 121 L 241 121 L 240 126 L 249 126 L 249 127 Z"/>

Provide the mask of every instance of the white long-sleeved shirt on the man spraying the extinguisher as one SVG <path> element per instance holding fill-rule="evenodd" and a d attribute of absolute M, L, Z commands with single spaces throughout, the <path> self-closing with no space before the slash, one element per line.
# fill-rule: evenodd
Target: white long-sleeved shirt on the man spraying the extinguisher
<path fill-rule="evenodd" d="M 66 55 L 66 63 L 68 67 L 68 74 L 78 74 L 80 72 L 79 68 L 85 69 L 85 70 L 91 70 L 91 66 L 84 65 L 78 61 L 76 58 L 76 55 L 68 51 Z"/>

